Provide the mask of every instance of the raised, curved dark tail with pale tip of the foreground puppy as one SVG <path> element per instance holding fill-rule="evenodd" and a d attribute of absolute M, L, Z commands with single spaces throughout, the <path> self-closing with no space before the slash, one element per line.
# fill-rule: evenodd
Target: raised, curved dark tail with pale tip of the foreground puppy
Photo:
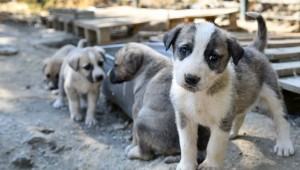
<path fill-rule="evenodd" d="M 248 45 L 248 47 L 252 47 L 257 49 L 260 52 L 264 52 L 264 49 L 267 46 L 267 27 L 264 18 L 260 13 L 257 12 L 246 12 L 246 15 L 255 18 L 258 25 L 258 30 L 256 36 L 253 41 Z"/>

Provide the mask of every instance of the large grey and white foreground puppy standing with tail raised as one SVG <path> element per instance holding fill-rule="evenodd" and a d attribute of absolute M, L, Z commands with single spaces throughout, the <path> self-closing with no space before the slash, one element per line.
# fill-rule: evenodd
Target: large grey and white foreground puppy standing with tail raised
<path fill-rule="evenodd" d="M 209 22 L 181 24 L 164 36 L 166 49 L 172 46 L 173 50 L 170 96 L 181 147 L 178 170 L 197 166 L 198 124 L 209 127 L 211 132 L 207 156 L 198 168 L 220 168 L 229 134 L 232 138 L 237 136 L 245 114 L 257 101 L 269 108 L 275 124 L 274 151 L 279 156 L 294 154 L 277 75 L 260 52 L 267 37 L 265 23 L 257 13 L 248 15 L 257 19 L 259 30 L 258 37 L 246 48 Z"/>

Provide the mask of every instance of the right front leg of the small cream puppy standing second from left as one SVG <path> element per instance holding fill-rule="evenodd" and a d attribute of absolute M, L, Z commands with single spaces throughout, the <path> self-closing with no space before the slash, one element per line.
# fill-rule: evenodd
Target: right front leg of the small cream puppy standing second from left
<path fill-rule="evenodd" d="M 88 126 L 92 126 L 97 123 L 97 120 L 95 118 L 95 113 L 96 113 L 97 101 L 99 99 L 99 91 L 95 90 L 89 92 L 87 97 L 88 97 L 88 108 L 85 117 L 85 124 Z"/>

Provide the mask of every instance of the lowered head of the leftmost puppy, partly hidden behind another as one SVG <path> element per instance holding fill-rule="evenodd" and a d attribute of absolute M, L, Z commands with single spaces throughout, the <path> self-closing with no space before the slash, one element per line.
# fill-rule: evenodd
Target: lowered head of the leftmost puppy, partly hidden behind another
<path fill-rule="evenodd" d="M 44 82 L 48 90 L 54 90 L 58 88 L 58 77 L 62 60 L 58 58 L 46 58 L 43 63 Z"/>

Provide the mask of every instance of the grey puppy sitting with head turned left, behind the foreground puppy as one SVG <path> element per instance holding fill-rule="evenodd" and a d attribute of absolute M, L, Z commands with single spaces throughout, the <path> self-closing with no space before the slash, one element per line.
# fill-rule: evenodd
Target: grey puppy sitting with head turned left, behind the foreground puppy
<path fill-rule="evenodd" d="M 108 73 L 110 81 L 132 81 L 134 104 L 130 159 L 153 159 L 155 153 L 178 154 L 179 138 L 169 92 L 172 62 L 152 48 L 128 43 L 121 48 Z"/>

